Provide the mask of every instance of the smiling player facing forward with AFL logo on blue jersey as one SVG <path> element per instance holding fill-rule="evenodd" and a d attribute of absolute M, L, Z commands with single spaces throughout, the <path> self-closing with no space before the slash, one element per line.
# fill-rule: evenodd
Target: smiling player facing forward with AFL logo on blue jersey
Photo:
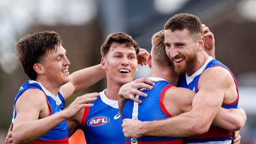
<path fill-rule="evenodd" d="M 82 109 L 67 120 L 69 135 L 76 129 L 82 129 L 87 144 L 124 143 L 118 92 L 122 85 L 133 80 L 137 71 L 139 50 L 137 42 L 126 33 L 108 35 L 101 46 L 101 66 L 106 70 L 107 89 L 100 92 L 96 101 L 91 102 L 93 107 Z"/>

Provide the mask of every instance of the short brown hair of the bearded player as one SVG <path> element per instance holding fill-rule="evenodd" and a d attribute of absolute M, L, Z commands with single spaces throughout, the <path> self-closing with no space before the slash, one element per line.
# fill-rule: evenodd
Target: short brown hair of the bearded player
<path fill-rule="evenodd" d="M 203 36 L 202 24 L 199 18 L 188 13 L 174 15 L 165 23 L 165 30 L 184 30 L 196 41 Z"/>

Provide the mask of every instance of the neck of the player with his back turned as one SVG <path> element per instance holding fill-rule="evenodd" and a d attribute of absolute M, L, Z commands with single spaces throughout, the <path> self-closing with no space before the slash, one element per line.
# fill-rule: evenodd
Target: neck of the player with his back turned
<path fill-rule="evenodd" d="M 180 76 L 174 72 L 173 67 L 162 67 L 158 65 L 152 65 L 150 77 L 163 78 L 175 86 L 178 85 L 180 78 Z"/>

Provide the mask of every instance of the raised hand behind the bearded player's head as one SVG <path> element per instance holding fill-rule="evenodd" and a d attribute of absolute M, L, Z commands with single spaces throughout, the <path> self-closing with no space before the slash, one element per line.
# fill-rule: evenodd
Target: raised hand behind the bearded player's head
<path fill-rule="evenodd" d="M 203 27 L 203 33 L 204 33 L 204 51 L 215 58 L 215 41 L 214 41 L 214 35 L 209 30 L 207 26 L 202 24 Z"/>

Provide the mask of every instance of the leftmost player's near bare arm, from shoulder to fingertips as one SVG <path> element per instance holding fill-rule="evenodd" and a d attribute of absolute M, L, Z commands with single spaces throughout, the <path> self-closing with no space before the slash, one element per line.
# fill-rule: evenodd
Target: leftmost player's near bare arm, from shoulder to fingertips
<path fill-rule="evenodd" d="M 38 119 L 42 113 L 49 114 L 45 95 L 38 89 L 27 90 L 16 102 L 17 117 L 12 131 L 13 143 L 28 143 L 42 137 L 63 120 L 77 114 L 82 108 L 93 106 L 87 103 L 96 100 L 96 96 L 98 96 L 96 93 L 85 94 L 76 98 L 67 109 Z"/>

